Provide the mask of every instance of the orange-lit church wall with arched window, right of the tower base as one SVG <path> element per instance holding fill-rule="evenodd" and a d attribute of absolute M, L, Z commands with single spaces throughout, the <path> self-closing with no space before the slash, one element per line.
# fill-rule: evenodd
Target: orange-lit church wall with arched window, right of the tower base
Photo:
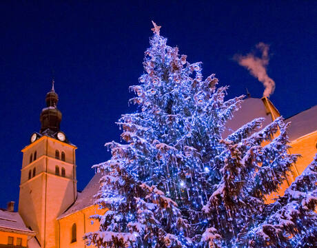
<path fill-rule="evenodd" d="M 65 218 L 59 220 L 59 246 L 60 248 L 83 248 L 87 247 L 85 245 L 85 240 L 83 240 L 84 234 L 91 231 L 98 231 L 99 223 L 97 220 L 90 219 L 90 216 L 94 214 L 104 214 L 105 210 L 98 209 L 96 205 L 92 205 L 85 209 L 70 214 Z M 76 242 L 72 241 L 72 225 L 76 224 Z M 92 247 L 92 246 L 90 246 Z"/>

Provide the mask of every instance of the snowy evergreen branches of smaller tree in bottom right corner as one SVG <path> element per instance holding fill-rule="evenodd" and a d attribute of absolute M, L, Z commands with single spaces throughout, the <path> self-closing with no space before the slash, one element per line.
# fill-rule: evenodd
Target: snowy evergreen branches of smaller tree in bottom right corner
<path fill-rule="evenodd" d="M 317 247 L 316 182 L 317 155 L 242 240 L 249 247 Z"/>

